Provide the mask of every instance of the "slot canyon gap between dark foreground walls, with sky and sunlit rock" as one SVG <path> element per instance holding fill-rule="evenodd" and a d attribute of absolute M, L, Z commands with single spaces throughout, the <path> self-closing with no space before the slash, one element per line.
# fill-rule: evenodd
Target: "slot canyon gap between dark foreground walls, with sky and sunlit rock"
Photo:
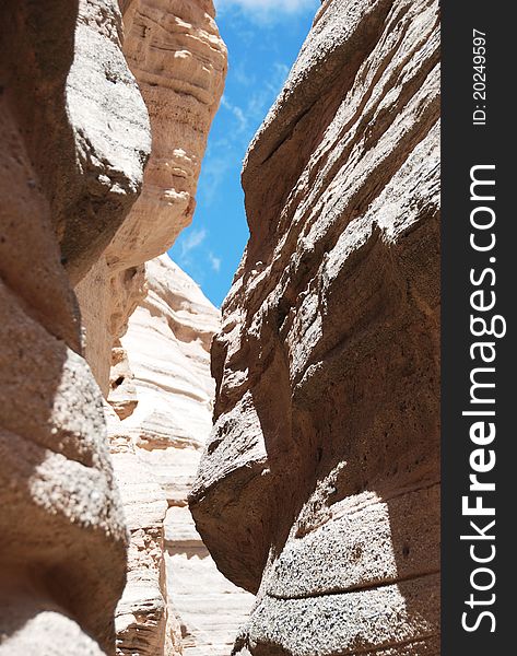
<path fill-rule="evenodd" d="M 222 2 L 218 24 L 200 0 L 120 4 L 152 148 L 137 202 L 77 286 L 130 531 L 119 655 L 227 656 L 255 601 L 218 570 L 188 494 L 212 430 L 218 306 L 249 236 L 242 163 L 318 3 L 260 4 Z"/>

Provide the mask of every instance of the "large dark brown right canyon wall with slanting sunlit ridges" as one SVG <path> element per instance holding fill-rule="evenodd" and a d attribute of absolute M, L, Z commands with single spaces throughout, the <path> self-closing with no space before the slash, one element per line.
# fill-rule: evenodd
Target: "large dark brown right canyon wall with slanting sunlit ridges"
<path fill-rule="evenodd" d="M 438 20 L 324 2 L 247 155 L 190 497 L 236 654 L 439 653 Z"/>

